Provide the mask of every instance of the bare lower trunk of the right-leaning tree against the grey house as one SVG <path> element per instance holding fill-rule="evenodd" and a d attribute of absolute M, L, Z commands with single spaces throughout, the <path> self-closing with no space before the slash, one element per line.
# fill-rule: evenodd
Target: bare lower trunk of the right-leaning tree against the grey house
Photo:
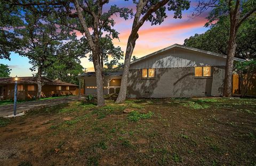
<path fill-rule="evenodd" d="M 132 52 L 135 46 L 135 42 L 138 38 L 139 38 L 139 34 L 137 33 L 135 37 L 132 38 L 130 36 L 128 39 L 128 44 L 125 52 L 124 71 L 123 71 L 122 80 L 121 80 L 121 88 L 120 88 L 118 97 L 116 99 L 116 103 L 123 103 L 126 99 L 130 62 L 131 62 L 131 57 L 132 57 Z"/>

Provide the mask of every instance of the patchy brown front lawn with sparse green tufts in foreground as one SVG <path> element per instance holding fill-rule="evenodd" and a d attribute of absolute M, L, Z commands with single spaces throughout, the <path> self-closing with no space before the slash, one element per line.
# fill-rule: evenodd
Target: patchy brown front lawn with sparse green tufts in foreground
<path fill-rule="evenodd" d="M 74 101 L 0 126 L 0 165 L 256 165 L 256 99 Z"/>

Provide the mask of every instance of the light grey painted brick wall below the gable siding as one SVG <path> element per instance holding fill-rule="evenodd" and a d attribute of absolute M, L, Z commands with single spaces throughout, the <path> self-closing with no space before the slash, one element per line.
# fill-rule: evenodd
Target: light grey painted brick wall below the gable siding
<path fill-rule="evenodd" d="M 156 68 L 155 78 L 142 79 L 141 69 L 129 72 L 131 98 L 203 97 L 222 95 L 225 66 L 213 66 L 212 77 L 195 77 L 194 67 Z"/>

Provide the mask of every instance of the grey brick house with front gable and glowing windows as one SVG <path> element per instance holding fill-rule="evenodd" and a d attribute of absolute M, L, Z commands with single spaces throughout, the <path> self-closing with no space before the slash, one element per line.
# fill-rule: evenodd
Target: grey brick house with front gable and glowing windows
<path fill-rule="evenodd" d="M 235 63 L 244 59 L 235 58 Z M 182 45 L 156 51 L 131 62 L 130 98 L 221 96 L 226 56 Z M 103 73 L 104 93 L 118 92 L 121 72 Z M 94 72 L 79 76 L 85 94 L 96 94 Z"/>

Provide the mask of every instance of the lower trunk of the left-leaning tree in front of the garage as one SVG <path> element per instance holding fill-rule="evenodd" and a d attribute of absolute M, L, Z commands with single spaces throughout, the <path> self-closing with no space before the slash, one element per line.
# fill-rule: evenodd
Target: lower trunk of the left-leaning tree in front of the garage
<path fill-rule="evenodd" d="M 95 47 L 93 51 L 93 65 L 96 74 L 97 84 L 97 106 L 105 106 L 104 92 L 103 92 L 103 77 L 101 72 L 101 63 L 99 59 L 99 47 Z"/>

